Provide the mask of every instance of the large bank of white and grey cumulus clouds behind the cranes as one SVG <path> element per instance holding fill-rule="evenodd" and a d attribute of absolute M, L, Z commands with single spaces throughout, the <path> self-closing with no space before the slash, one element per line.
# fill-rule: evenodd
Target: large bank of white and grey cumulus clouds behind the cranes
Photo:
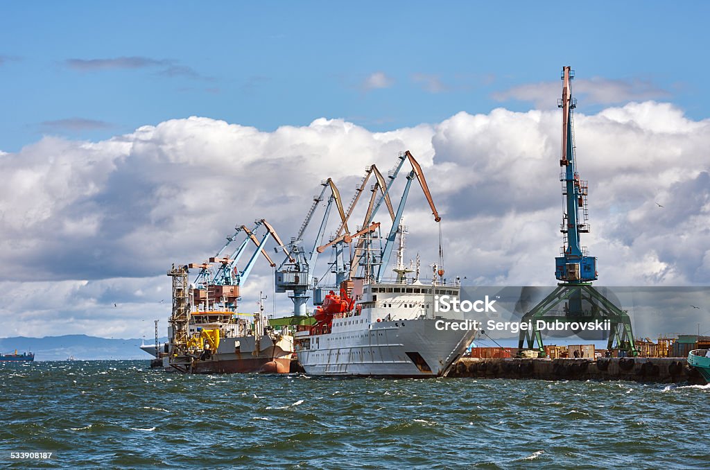
<path fill-rule="evenodd" d="M 422 164 L 442 214 L 447 276 L 553 285 L 560 122 L 557 110 L 494 109 L 380 133 L 340 119 L 265 132 L 191 117 L 106 141 L 45 137 L 0 153 L 3 335 L 152 334 L 152 319 L 168 316 L 171 263 L 214 256 L 236 224 L 254 219 L 288 240 L 321 180 L 332 177 L 347 203 L 367 165 L 385 173 L 404 150 Z M 590 188 L 592 231 L 582 244 L 599 257 L 598 284 L 709 283 L 710 121 L 641 102 L 578 112 L 574 122 L 578 170 Z M 434 263 L 438 229 L 416 183 L 405 218 L 408 258 Z M 331 256 L 322 254 L 317 275 Z M 268 310 L 275 300 L 287 314 L 288 298 L 273 297 L 271 267 L 257 261 L 244 310 L 263 290 Z"/>

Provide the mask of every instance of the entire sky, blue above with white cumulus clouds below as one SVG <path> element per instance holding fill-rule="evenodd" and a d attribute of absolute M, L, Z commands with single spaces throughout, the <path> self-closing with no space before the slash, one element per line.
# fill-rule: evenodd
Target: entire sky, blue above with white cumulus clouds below
<path fill-rule="evenodd" d="M 447 273 L 553 285 L 563 65 L 577 72 L 597 284 L 710 283 L 708 4 L 3 12 L 0 336 L 151 337 L 171 263 L 213 256 L 258 218 L 288 239 L 321 180 L 347 201 L 367 165 L 404 150 L 442 214 Z M 408 256 L 436 261 L 416 186 L 405 217 Z M 259 290 L 288 311 L 263 260 L 244 311 Z"/>

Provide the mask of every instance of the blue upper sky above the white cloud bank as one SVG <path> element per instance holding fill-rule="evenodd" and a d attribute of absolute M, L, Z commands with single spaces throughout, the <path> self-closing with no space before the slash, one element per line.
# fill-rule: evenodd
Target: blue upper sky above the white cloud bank
<path fill-rule="evenodd" d="M 188 116 L 263 130 L 343 118 L 385 131 L 457 111 L 527 110 L 544 102 L 510 89 L 552 82 L 564 64 L 621 84 L 588 100 L 589 112 L 658 99 L 701 119 L 709 104 L 706 2 L 74 1 L 2 11 L 2 151 Z"/>

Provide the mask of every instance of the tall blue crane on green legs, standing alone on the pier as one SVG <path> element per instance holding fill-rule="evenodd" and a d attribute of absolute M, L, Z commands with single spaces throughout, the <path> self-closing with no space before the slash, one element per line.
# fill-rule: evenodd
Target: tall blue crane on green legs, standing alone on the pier
<path fill-rule="evenodd" d="M 559 158 L 562 172 L 559 180 L 562 182 L 564 211 L 559 228 L 562 232 L 562 248 L 560 256 L 555 258 L 555 278 L 560 282 L 550 295 L 523 315 L 522 321 L 530 322 L 532 329 L 520 331 L 518 351 L 521 354 L 527 342 L 528 349 L 537 349 L 540 357 L 545 356 L 542 332 L 537 329 L 537 320 L 578 324 L 608 320 L 611 330 L 608 332 L 607 349 L 616 348 L 637 356 L 628 312 L 621 310 L 591 285 L 599 275 L 596 271 L 596 257 L 589 256 L 587 248 L 580 245 L 581 234 L 589 233 L 589 185 L 577 173 L 577 147 L 574 141 L 574 109 L 577 107 L 577 99 L 572 97 L 572 67 L 563 67 L 560 78 L 563 85 L 562 98 L 557 101 L 557 106 L 562 109 L 562 155 Z"/>

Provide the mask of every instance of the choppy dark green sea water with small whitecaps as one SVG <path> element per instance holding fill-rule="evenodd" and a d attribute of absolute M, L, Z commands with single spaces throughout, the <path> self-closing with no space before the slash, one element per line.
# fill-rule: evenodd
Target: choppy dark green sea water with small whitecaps
<path fill-rule="evenodd" d="M 183 376 L 143 361 L 0 366 L 0 462 L 98 467 L 704 466 L 710 386 Z M 633 444 L 631 444 L 633 443 Z"/>

